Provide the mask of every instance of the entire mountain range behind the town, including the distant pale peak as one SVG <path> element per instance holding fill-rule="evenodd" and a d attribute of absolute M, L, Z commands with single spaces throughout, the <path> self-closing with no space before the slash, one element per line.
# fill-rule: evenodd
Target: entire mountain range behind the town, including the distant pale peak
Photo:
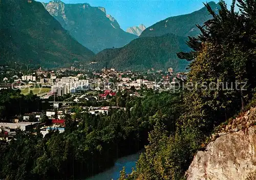
<path fill-rule="evenodd" d="M 218 4 L 209 5 L 218 11 Z M 198 35 L 196 24 L 210 18 L 204 7 L 146 29 L 143 25 L 132 27 L 128 33 L 103 7 L 59 0 L 47 4 L 0 0 L 0 62 L 57 67 L 95 61 L 96 69 L 108 63 L 119 70 L 172 67 L 184 71 L 188 63 L 179 60 L 176 53 L 190 51 L 186 36 Z M 100 52 L 95 55 L 89 49 Z"/>

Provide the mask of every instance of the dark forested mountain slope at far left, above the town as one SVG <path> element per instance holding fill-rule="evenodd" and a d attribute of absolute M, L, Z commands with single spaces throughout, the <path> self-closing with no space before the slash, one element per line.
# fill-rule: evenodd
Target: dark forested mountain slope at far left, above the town
<path fill-rule="evenodd" d="M 39 2 L 1 0 L 0 23 L 1 63 L 56 67 L 88 61 L 94 55 Z"/>

